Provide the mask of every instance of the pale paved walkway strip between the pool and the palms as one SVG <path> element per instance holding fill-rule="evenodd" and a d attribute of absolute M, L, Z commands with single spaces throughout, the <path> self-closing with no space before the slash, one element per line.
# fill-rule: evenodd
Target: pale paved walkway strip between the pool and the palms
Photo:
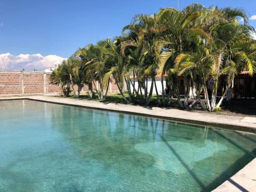
<path fill-rule="evenodd" d="M 98 101 L 79 100 L 72 98 L 61 98 L 52 96 L 24 96 L 24 97 L 3 97 L 4 99 L 33 99 L 38 101 L 54 102 L 59 104 L 85 106 L 94 109 L 103 109 L 122 113 L 130 113 L 142 116 L 150 116 L 169 120 L 182 121 L 186 123 L 199 123 L 201 125 L 223 127 L 227 129 L 256 132 L 256 123 L 251 119 L 239 116 L 215 115 L 207 113 L 188 112 L 177 109 L 162 109 L 158 107 L 146 108 L 129 104 L 103 103 Z M 256 118 L 255 118 L 256 119 Z"/>

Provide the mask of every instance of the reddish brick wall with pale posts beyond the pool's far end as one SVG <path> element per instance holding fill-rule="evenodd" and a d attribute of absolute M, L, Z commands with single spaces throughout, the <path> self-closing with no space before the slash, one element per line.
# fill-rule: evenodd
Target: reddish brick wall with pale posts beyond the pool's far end
<path fill-rule="evenodd" d="M 50 73 L 44 72 L 0 71 L 0 95 L 60 93 L 60 87 L 50 84 L 50 76 Z M 95 82 L 95 86 L 100 90 L 99 83 Z M 74 89 L 77 90 L 77 86 Z M 88 86 L 85 85 L 82 92 L 87 91 Z M 113 78 L 109 92 L 118 92 Z"/>

